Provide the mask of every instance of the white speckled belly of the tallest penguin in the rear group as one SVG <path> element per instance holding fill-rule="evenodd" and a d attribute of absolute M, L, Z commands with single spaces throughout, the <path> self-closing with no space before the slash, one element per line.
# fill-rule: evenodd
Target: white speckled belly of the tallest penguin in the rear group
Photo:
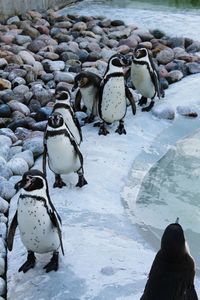
<path fill-rule="evenodd" d="M 111 77 L 104 85 L 101 118 L 108 123 L 121 120 L 126 114 L 124 78 Z"/>

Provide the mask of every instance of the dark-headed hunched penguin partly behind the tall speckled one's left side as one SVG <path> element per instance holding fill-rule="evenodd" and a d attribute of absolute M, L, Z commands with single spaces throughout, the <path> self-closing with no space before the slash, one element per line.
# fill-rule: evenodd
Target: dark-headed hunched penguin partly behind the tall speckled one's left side
<path fill-rule="evenodd" d="M 85 123 L 91 123 L 97 116 L 101 80 L 100 76 L 88 71 L 82 71 L 74 78 L 72 91 L 78 88 L 75 97 L 75 111 L 81 110 L 82 100 L 88 115 L 84 120 Z"/>

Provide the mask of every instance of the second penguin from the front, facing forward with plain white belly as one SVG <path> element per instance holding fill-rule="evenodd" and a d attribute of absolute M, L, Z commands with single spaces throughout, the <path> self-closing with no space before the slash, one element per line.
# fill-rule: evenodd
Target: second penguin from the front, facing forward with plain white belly
<path fill-rule="evenodd" d="M 54 188 L 66 186 L 61 174 L 71 172 L 78 174 L 76 186 L 82 187 L 87 184 L 84 178 L 83 156 L 79 146 L 64 122 L 62 114 L 57 112 L 49 116 L 44 134 L 43 172 L 45 175 L 47 157 L 49 168 L 55 174 Z"/>

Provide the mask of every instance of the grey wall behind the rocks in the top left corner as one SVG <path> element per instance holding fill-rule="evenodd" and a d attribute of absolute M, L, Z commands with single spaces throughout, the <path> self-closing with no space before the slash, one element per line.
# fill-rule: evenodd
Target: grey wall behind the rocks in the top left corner
<path fill-rule="evenodd" d="M 19 15 L 28 10 L 46 10 L 63 7 L 79 0 L 0 0 L 0 20 L 12 15 Z"/>

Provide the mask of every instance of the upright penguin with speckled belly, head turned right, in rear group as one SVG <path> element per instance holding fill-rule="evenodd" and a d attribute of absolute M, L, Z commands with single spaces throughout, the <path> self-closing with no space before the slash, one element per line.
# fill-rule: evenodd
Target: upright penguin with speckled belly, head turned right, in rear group
<path fill-rule="evenodd" d="M 129 99 L 133 114 L 136 113 L 134 98 L 125 86 L 123 66 L 127 65 L 127 60 L 121 54 L 111 56 L 104 78 L 100 86 L 98 113 L 102 120 L 99 129 L 99 135 L 107 135 L 109 131 L 105 124 L 112 124 L 119 121 L 116 130 L 119 134 L 126 134 L 124 128 L 124 117 L 126 115 L 126 98 Z"/>

